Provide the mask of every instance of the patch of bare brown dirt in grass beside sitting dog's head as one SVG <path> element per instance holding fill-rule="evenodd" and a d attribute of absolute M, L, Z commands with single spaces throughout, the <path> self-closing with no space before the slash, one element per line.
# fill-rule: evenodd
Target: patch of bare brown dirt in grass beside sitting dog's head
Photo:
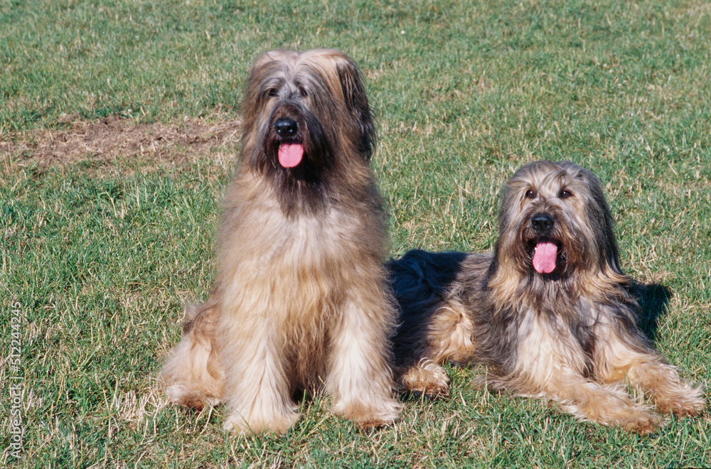
<path fill-rule="evenodd" d="M 38 129 L 0 141 L 0 160 L 40 168 L 90 161 L 92 166 L 136 160 L 147 166 L 189 164 L 213 153 L 232 153 L 240 139 L 240 119 L 219 123 L 186 119 L 180 124 L 139 124 L 117 115 L 95 122 L 65 116 L 65 130 Z"/>

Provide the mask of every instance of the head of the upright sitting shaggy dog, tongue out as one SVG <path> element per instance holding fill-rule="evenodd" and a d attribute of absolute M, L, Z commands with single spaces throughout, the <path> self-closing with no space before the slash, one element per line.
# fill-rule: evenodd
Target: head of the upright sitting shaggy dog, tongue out
<path fill-rule="evenodd" d="M 260 173 L 318 183 L 324 171 L 368 163 L 373 153 L 375 126 L 360 72 L 338 50 L 260 55 L 243 111 L 243 143 Z M 360 161 L 339 161 L 349 158 Z"/>

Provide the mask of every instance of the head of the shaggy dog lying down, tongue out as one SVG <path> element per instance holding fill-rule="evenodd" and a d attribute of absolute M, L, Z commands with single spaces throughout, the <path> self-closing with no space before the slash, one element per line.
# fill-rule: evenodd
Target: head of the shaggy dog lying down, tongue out
<path fill-rule="evenodd" d="M 570 161 L 537 161 L 504 188 L 496 256 L 547 279 L 575 271 L 621 275 L 612 225 L 593 173 Z"/>

